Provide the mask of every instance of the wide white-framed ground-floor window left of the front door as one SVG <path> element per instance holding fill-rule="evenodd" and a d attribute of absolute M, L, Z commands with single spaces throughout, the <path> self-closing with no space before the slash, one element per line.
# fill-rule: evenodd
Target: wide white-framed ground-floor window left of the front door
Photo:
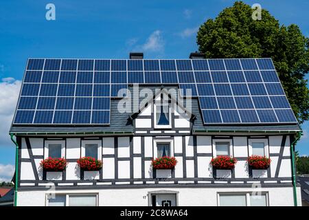
<path fill-rule="evenodd" d="M 47 195 L 47 206 L 98 206 L 98 195 Z"/>

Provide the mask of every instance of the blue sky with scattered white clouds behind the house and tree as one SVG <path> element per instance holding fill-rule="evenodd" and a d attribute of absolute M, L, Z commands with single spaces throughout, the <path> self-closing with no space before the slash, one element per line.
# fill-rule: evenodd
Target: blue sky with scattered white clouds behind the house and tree
<path fill-rule="evenodd" d="M 144 52 L 145 58 L 187 58 L 197 50 L 199 25 L 233 2 L 1 1 L 0 180 L 1 164 L 14 164 L 8 129 L 28 57 L 128 58 L 129 52 L 138 50 Z M 296 23 L 309 36 L 308 0 L 244 2 L 260 3 L 280 23 Z M 45 19 L 47 3 L 56 5 L 56 21 Z M 303 129 L 305 135 L 297 149 L 301 155 L 309 155 L 308 122 Z"/>

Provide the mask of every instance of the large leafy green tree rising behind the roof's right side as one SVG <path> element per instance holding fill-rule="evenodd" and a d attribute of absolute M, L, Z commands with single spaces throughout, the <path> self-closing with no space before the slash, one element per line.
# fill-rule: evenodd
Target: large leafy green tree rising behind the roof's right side
<path fill-rule="evenodd" d="M 206 58 L 271 57 L 290 105 L 300 123 L 309 118 L 309 39 L 295 24 L 280 25 L 262 10 L 253 20 L 250 5 L 236 1 L 198 30 L 197 43 Z"/>

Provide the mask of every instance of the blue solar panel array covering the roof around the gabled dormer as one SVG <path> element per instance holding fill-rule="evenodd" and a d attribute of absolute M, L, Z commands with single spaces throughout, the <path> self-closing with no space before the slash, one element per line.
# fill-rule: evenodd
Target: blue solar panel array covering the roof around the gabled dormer
<path fill-rule="evenodd" d="M 42 58 L 28 60 L 14 124 L 109 124 L 111 98 L 134 83 L 178 85 L 204 124 L 297 122 L 270 58 Z"/>

